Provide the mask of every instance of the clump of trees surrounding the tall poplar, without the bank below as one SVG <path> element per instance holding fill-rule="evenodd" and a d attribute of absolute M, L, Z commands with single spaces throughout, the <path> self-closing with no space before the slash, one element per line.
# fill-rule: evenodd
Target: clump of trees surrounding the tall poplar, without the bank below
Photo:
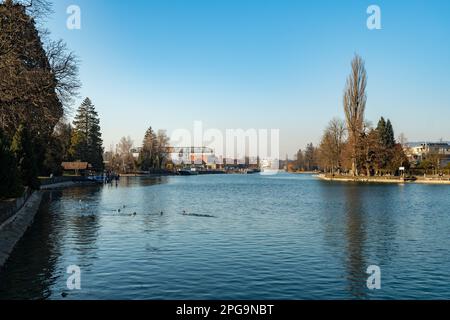
<path fill-rule="evenodd" d="M 408 170 L 403 141 L 396 141 L 391 121 L 381 117 L 373 127 L 365 119 L 366 86 L 364 61 L 356 55 L 344 89 L 345 120 L 332 119 L 318 147 L 311 143 L 304 151 L 299 150 L 294 166 L 297 170 L 354 176 L 398 175 L 400 167 Z"/>

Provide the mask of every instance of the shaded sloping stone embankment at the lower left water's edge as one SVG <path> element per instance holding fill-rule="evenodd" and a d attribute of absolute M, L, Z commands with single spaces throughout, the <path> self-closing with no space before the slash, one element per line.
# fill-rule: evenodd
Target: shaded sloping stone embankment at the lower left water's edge
<path fill-rule="evenodd" d="M 33 223 L 42 200 L 42 192 L 35 191 L 23 206 L 0 225 L 0 270 L 14 247 Z"/>

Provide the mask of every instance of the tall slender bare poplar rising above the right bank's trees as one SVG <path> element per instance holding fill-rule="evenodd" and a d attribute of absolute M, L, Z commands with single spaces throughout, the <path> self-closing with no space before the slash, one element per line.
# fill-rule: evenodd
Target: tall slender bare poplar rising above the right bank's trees
<path fill-rule="evenodd" d="M 358 175 L 357 152 L 360 136 L 364 127 L 364 112 L 366 109 L 367 73 L 364 61 L 359 55 L 352 60 L 352 71 L 347 78 L 344 90 L 344 111 L 352 147 L 352 172 Z"/>

